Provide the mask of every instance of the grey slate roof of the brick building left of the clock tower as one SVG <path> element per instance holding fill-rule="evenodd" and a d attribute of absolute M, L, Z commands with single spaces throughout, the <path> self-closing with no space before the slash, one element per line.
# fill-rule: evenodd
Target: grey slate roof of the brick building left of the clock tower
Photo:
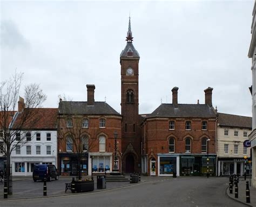
<path fill-rule="evenodd" d="M 87 106 L 87 101 L 60 101 L 60 114 L 95 114 L 95 115 L 119 115 L 106 102 L 94 102 L 94 105 Z"/>

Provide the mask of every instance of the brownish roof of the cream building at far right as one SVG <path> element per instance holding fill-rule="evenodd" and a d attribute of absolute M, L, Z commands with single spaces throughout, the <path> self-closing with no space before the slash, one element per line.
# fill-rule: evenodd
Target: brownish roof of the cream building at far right
<path fill-rule="evenodd" d="M 219 126 L 252 128 L 252 118 L 233 114 L 218 113 Z"/>

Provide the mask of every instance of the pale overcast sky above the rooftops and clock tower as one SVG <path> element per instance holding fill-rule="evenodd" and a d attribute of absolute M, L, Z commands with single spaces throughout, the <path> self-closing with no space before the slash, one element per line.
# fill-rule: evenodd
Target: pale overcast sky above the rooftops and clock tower
<path fill-rule="evenodd" d="M 254 1 L 1 1 L 1 79 L 24 72 L 58 107 L 58 95 L 95 100 L 120 113 L 120 53 L 131 13 L 140 54 L 139 113 L 161 102 L 205 102 L 218 112 L 251 116 L 251 23 Z M 21 96 L 23 95 L 23 87 Z"/>

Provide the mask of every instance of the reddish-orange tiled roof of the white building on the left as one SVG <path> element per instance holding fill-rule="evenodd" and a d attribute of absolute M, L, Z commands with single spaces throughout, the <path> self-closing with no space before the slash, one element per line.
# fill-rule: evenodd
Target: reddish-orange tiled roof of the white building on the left
<path fill-rule="evenodd" d="M 17 115 L 12 128 L 57 129 L 57 114 L 58 108 L 25 108 Z"/>

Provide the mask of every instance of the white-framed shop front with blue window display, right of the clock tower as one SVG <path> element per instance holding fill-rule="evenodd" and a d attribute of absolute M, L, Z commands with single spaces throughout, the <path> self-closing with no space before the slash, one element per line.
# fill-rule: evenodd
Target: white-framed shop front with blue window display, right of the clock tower
<path fill-rule="evenodd" d="M 179 155 L 158 154 L 158 176 L 173 176 L 173 173 L 179 176 L 179 160 Z M 151 160 L 151 167 L 154 162 L 154 160 Z M 151 172 L 151 175 L 154 174 Z"/>

